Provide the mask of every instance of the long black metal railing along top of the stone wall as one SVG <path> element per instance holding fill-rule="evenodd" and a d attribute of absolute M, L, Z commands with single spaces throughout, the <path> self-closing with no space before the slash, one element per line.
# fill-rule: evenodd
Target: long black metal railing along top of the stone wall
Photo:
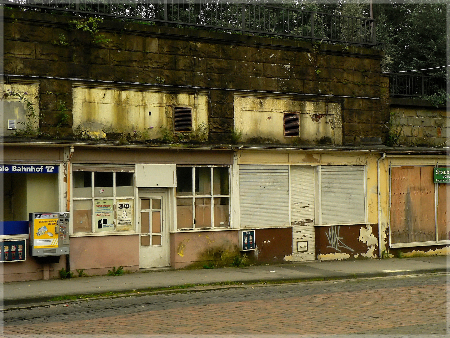
<path fill-rule="evenodd" d="M 376 46 L 374 19 L 234 0 L 0 0 L 0 4 L 166 26 Z"/>

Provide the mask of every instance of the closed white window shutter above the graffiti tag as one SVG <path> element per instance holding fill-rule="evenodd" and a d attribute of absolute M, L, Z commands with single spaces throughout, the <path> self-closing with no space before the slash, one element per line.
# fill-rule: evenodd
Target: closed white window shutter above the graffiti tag
<path fill-rule="evenodd" d="M 365 222 L 364 166 L 320 169 L 322 224 Z"/>

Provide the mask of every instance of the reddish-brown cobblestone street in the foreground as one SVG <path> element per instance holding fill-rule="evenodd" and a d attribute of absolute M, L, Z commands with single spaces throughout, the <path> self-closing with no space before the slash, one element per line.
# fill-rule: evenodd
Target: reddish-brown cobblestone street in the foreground
<path fill-rule="evenodd" d="M 78 301 L 4 313 L 4 334 L 440 334 L 446 274 Z"/>

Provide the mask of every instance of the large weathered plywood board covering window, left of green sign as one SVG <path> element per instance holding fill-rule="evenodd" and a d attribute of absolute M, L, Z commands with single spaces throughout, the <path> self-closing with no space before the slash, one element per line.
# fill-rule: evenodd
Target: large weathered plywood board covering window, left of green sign
<path fill-rule="evenodd" d="M 391 243 L 436 240 L 433 167 L 392 167 Z"/>

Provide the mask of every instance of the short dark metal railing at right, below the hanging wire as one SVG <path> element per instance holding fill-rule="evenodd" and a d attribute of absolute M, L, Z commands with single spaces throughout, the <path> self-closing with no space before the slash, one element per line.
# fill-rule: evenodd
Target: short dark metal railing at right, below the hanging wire
<path fill-rule="evenodd" d="M 446 80 L 426 75 L 389 74 L 389 92 L 391 96 L 421 97 L 432 95 L 446 88 Z"/>

